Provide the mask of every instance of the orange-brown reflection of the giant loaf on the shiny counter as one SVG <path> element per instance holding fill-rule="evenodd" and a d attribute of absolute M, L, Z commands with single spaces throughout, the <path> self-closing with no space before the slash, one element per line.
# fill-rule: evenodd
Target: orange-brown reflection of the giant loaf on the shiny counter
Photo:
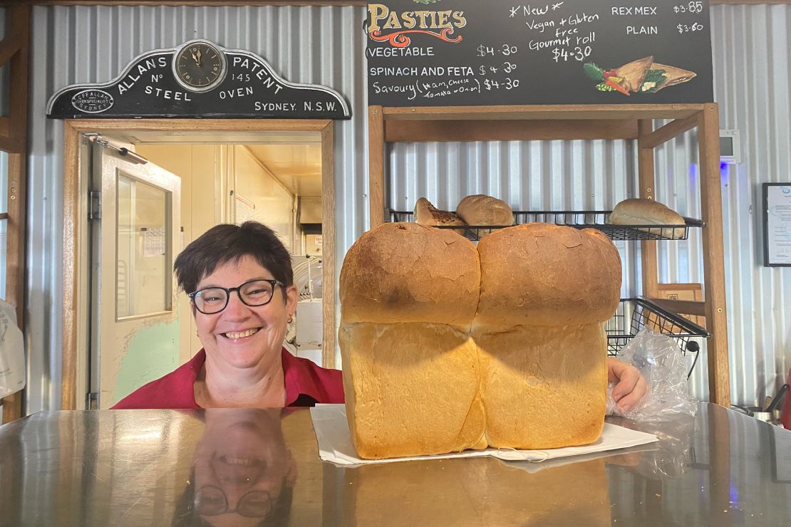
<path fill-rule="evenodd" d="M 514 465 L 454 458 L 342 469 L 343 518 L 331 525 L 610 525 L 603 460 L 535 474 Z"/>

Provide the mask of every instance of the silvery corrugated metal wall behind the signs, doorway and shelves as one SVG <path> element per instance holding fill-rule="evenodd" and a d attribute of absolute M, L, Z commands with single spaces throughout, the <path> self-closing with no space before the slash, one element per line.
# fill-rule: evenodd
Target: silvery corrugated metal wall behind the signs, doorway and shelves
<path fill-rule="evenodd" d="M 791 366 L 791 269 L 762 267 L 759 188 L 791 179 L 789 6 L 713 6 L 715 97 L 721 128 L 740 130 L 744 162 L 723 170 L 723 206 L 732 398 L 755 404 Z M 28 187 L 28 412 L 59 408 L 62 336 L 62 126 L 44 119 L 63 85 L 106 81 L 135 55 L 191 38 L 215 40 L 267 58 L 290 81 L 329 85 L 349 100 L 350 122 L 335 129 L 336 251 L 367 228 L 365 13 L 353 7 L 78 7 L 33 9 L 32 119 Z M 694 132 L 657 158 L 657 199 L 700 216 Z M 630 141 L 478 142 L 394 145 L 389 205 L 411 209 L 426 196 L 452 209 L 486 193 L 515 209 L 602 209 L 636 194 Z M 43 212 L 41 212 L 43 211 Z M 698 233 L 661 243 L 660 280 L 702 281 Z M 638 248 L 619 243 L 625 262 Z M 733 256 L 731 256 L 731 254 Z M 636 266 L 624 294 L 639 292 Z M 706 356 L 692 392 L 707 398 Z"/>

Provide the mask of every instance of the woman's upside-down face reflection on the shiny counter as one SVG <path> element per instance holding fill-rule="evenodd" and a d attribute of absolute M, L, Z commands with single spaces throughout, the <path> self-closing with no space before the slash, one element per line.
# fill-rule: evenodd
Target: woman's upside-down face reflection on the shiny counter
<path fill-rule="evenodd" d="M 206 409 L 187 490 L 174 525 L 282 525 L 297 465 L 283 440 L 281 410 Z"/>

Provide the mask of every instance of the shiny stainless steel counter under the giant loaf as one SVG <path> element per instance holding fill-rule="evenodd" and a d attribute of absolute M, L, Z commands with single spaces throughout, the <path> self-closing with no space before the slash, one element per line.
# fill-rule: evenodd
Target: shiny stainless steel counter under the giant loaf
<path fill-rule="evenodd" d="M 0 525 L 791 525 L 791 431 L 612 422 L 660 442 L 340 468 L 307 409 L 41 412 L 0 427 Z"/>

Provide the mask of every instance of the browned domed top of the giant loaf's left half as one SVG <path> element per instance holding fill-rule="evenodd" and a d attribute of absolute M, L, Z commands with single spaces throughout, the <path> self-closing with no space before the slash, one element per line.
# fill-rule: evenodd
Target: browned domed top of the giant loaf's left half
<path fill-rule="evenodd" d="M 343 260 L 341 322 L 434 322 L 468 327 L 478 305 L 475 246 L 444 229 L 381 224 Z"/>

